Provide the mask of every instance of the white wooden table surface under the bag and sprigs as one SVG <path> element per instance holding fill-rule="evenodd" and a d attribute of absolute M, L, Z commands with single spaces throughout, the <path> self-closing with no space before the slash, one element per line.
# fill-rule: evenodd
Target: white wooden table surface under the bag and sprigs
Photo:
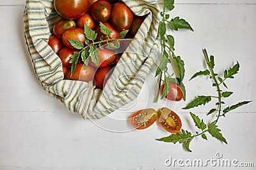
<path fill-rule="evenodd" d="M 0 169 L 189 169 L 166 159 L 221 159 L 239 163 L 253 162 L 256 168 L 256 1 L 255 0 L 177 0 L 172 17 L 189 21 L 194 32 L 172 32 L 176 53 L 186 64 L 187 101 L 153 104 L 156 85 L 145 83 L 138 100 L 102 120 L 83 120 L 62 103 L 44 92 L 36 80 L 24 43 L 22 13 L 25 1 L 0 0 Z M 239 61 L 239 74 L 228 81 L 234 91 L 227 104 L 253 101 L 221 118 L 221 132 L 228 145 L 208 136 L 208 141 L 192 141 L 192 153 L 182 145 L 163 143 L 157 138 L 168 136 L 157 124 L 143 131 L 113 132 L 129 127 L 128 122 L 109 124 L 109 118 L 121 113 L 131 115 L 145 102 L 153 108 L 170 106 L 179 113 L 184 129 L 195 131 L 189 111 L 198 113 L 209 123 L 205 113 L 211 106 L 182 110 L 193 97 L 215 92 L 211 81 L 197 78 L 205 69 L 202 49 L 215 56 L 216 71 L 221 72 Z M 150 89 L 152 88 L 152 89 Z M 147 101 L 145 101 L 147 99 Z M 94 123 L 94 124 L 93 124 Z M 113 131 L 106 131 L 97 125 Z M 119 127 L 120 125 L 120 127 Z M 220 159 L 218 159 L 220 160 Z M 184 164 L 184 163 L 183 163 Z M 220 169 L 220 166 L 207 167 Z M 202 169 L 205 169 L 203 167 Z M 234 167 L 232 167 L 233 169 Z M 238 167 L 237 167 L 238 168 Z M 194 167 L 198 169 L 198 167 Z M 243 168 L 241 168 L 243 169 Z"/>

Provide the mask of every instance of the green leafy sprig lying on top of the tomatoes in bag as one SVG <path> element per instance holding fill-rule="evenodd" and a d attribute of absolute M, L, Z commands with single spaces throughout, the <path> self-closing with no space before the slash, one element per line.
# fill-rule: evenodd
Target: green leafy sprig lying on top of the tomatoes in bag
<path fill-rule="evenodd" d="M 99 65 L 99 50 L 104 50 L 103 43 L 106 43 L 106 47 L 109 50 L 116 50 L 120 48 L 120 42 L 119 40 L 127 40 L 124 39 L 128 30 L 121 31 L 119 36 L 119 39 L 109 39 L 109 34 L 111 34 L 111 31 L 109 31 L 108 27 L 106 25 L 102 24 L 100 22 L 100 32 L 106 35 L 107 39 L 103 39 L 103 36 L 100 37 L 100 41 L 95 41 L 97 38 L 97 32 L 93 31 L 89 27 L 87 27 L 84 24 L 84 35 L 85 35 L 85 41 L 84 44 L 80 41 L 77 41 L 77 39 L 68 39 L 70 44 L 76 48 L 77 50 L 80 50 L 79 52 L 74 52 L 74 54 L 70 57 L 70 63 L 72 63 L 71 66 L 71 75 L 74 73 L 74 70 L 76 69 L 76 64 L 79 60 L 79 57 L 81 56 L 82 61 L 86 66 L 89 64 L 89 58 L 91 57 L 92 62 L 94 62 L 96 65 Z M 90 41 L 92 43 L 90 43 Z"/>

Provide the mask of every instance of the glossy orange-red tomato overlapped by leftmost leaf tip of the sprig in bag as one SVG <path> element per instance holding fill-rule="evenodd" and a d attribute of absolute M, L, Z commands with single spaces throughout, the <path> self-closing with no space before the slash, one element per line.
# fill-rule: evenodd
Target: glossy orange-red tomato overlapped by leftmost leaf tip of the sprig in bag
<path fill-rule="evenodd" d="M 76 40 L 80 41 L 81 43 L 84 43 L 84 41 L 85 41 L 84 30 L 81 28 L 68 29 L 67 31 L 64 32 L 64 34 L 62 36 L 62 41 L 63 41 L 64 45 L 67 46 L 68 48 L 75 49 L 70 44 L 68 39 L 76 39 Z"/>

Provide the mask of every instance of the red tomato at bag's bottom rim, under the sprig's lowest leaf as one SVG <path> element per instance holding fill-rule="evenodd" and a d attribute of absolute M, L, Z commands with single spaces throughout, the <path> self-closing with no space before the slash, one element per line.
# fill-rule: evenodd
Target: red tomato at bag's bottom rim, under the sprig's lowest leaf
<path fill-rule="evenodd" d="M 65 79 L 89 82 L 93 80 L 95 71 L 92 66 L 85 66 L 83 63 L 77 63 L 74 73 L 72 74 L 72 76 L 70 76 L 70 74 L 71 70 L 68 69 L 67 73 L 65 74 Z"/>

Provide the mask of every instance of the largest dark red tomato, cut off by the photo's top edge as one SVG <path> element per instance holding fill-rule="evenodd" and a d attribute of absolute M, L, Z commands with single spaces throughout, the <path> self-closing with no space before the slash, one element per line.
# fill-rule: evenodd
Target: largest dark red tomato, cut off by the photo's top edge
<path fill-rule="evenodd" d="M 66 19 L 76 19 L 89 10 L 90 0 L 54 0 L 54 8 Z"/>

